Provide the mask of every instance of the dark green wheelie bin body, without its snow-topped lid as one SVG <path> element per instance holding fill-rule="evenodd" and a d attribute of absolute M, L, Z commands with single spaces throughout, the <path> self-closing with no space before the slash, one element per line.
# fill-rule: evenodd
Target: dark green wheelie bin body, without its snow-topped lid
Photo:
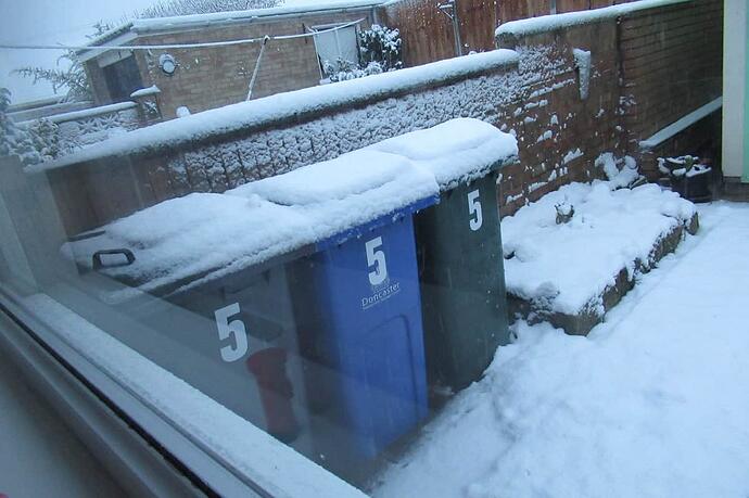
<path fill-rule="evenodd" d="M 415 217 L 428 381 L 461 390 L 509 342 L 497 175 L 441 192 Z"/>

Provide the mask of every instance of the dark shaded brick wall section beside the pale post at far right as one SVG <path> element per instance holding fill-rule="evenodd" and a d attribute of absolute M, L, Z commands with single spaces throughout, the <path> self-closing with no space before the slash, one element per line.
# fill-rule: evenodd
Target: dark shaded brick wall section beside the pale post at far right
<path fill-rule="evenodd" d="M 631 154 L 639 153 L 640 140 L 721 95 L 722 20 L 722 0 L 696 0 L 622 20 L 622 126 Z M 695 152 L 671 145 L 661 146 L 660 153 Z M 650 156 L 644 166 L 655 176 L 655 156 Z"/>

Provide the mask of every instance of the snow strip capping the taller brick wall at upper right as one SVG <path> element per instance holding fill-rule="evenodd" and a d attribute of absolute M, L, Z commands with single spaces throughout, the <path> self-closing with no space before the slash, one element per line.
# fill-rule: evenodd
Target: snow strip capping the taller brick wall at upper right
<path fill-rule="evenodd" d="M 564 14 L 542 15 L 499 25 L 494 31 L 497 38 L 523 37 L 539 33 L 564 29 L 583 24 L 599 23 L 646 9 L 693 2 L 695 0 L 638 0 L 620 5 L 605 7 L 591 11 L 567 12 Z"/>

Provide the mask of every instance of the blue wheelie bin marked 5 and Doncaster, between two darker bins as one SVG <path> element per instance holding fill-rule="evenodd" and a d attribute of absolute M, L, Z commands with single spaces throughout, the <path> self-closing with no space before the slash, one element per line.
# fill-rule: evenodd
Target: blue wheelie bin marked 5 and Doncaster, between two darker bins
<path fill-rule="evenodd" d="M 331 413 L 352 431 L 350 449 L 365 458 L 428 412 L 411 215 L 421 206 L 360 227 L 344 242 L 326 241 L 309 258 L 320 356 L 337 373 Z"/>

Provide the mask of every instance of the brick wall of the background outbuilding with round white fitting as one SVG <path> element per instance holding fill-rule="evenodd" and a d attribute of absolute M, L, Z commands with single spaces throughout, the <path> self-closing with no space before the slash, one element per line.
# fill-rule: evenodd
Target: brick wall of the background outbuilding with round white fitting
<path fill-rule="evenodd" d="M 136 39 L 138 44 L 196 43 L 238 40 L 264 35 L 297 35 L 310 26 L 346 23 L 365 17 L 359 26 L 371 24 L 371 11 L 340 14 L 314 14 L 283 21 L 243 23 L 215 26 L 170 34 L 154 34 Z M 212 47 L 200 49 L 169 49 L 138 52 L 143 86 L 156 85 L 161 94 L 158 104 L 165 119 L 176 117 L 179 106 L 196 113 L 208 108 L 242 102 L 246 99 L 250 78 L 257 61 L 259 43 Z M 169 53 L 178 67 L 166 75 L 158 67 L 158 58 Z M 97 103 L 106 103 L 109 93 L 101 71 L 90 61 L 87 67 L 97 95 Z M 272 40 L 266 47 L 255 81 L 253 98 L 297 90 L 319 85 L 320 72 L 312 37 Z"/>

